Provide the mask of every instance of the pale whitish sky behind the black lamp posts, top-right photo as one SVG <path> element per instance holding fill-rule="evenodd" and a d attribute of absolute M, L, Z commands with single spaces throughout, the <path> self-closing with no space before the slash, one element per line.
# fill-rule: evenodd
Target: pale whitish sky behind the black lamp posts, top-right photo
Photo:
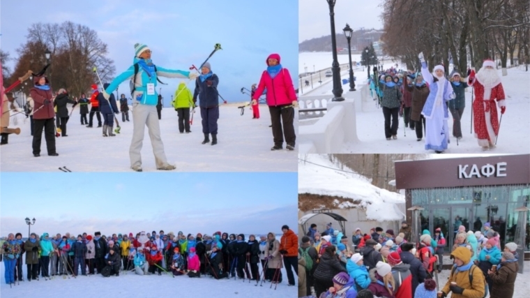
<path fill-rule="evenodd" d="M 380 18 L 382 0 L 338 0 L 335 3 L 335 33 L 349 24 L 351 29 L 383 29 Z M 328 2 L 324 0 L 298 1 L 298 42 L 331 34 Z"/>

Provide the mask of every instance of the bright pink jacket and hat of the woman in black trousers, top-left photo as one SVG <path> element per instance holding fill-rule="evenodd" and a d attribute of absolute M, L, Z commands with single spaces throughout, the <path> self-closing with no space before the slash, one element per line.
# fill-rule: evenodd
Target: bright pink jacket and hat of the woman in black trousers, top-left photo
<path fill-rule="evenodd" d="M 278 59 L 278 64 L 280 64 L 280 55 L 271 54 L 268 59 Z M 255 91 L 252 99 L 258 100 L 259 96 L 262 96 L 264 89 L 267 89 L 267 105 L 277 106 L 277 105 L 290 105 L 293 100 L 296 99 L 296 92 L 294 91 L 293 81 L 289 70 L 287 68 L 282 68 L 280 73 L 274 77 L 268 74 L 267 70 L 264 70 L 262 73 L 262 78 L 259 80 L 259 85 Z"/>

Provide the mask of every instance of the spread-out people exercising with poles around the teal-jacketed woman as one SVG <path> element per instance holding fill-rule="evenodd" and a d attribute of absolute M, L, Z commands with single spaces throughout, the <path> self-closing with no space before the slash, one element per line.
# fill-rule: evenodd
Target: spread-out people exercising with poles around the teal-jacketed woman
<path fill-rule="evenodd" d="M 33 135 L 33 156 L 40 156 L 40 143 L 44 131 L 47 144 L 47 154 L 58 156 L 55 146 L 56 126 L 54 118 L 57 119 L 57 127 L 63 136 L 66 134 L 66 123 L 70 113 L 66 108 L 68 103 L 79 105 L 81 123 L 86 124 L 86 114 L 89 113 L 88 105 L 91 105 L 90 119 L 87 127 L 93 127 L 93 116 L 98 118 L 98 127 L 103 126 L 103 136 L 114 136 L 112 129 L 114 126 L 114 114 L 122 112 L 122 120 L 128 121 L 128 100 L 124 94 L 121 95 L 120 110 L 116 105 L 113 91 L 122 82 L 131 79 L 132 96 L 132 120 L 133 133 L 130 144 L 130 167 L 137 172 L 142 171 L 142 158 L 140 151 L 144 139 L 144 129 L 147 126 L 149 137 L 153 146 L 153 154 L 156 159 L 158 170 L 174 170 L 175 165 L 167 162 L 164 145 L 160 137 L 160 110 L 161 96 L 156 92 L 158 77 L 181 77 L 195 80 L 195 91 L 191 95 L 186 91 L 186 83 L 179 84 L 179 89 L 175 92 L 174 107 L 178 113 L 179 131 L 190 133 L 189 118 L 190 108 L 196 105 L 200 108 L 202 117 L 202 132 L 204 140 L 202 144 L 218 144 L 218 119 L 219 119 L 219 77 L 211 70 L 211 64 L 206 62 L 202 65 L 200 73 L 192 73 L 187 70 L 171 70 L 156 66 L 151 59 L 151 50 L 147 45 L 135 44 L 135 57 L 132 66 L 125 72 L 116 76 L 112 82 L 103 85 L 103 91 L 98 91 L 98 85 L 92 85 L 91 98 L 86 98 L 82 94 L 79 100 L 74 101 L 68 98 L 65 89 L 60 89 L 54 94 L 50 82 L 45 75 L 33 77 L 34 86 L 30 91 L 31 97 L 31 134 Z M 266 102 L 271 113 L 272 132 L 274 145 L 271 150 L 280 150 L 283 143 L 287 143 L 288 150 L 294 150 L 296 143 L 296 133 L 294 131 L 294 108 L 298 107 L 298 100 L 294 90 L 293 82 L 289 70 L 280 64 L 280 55 L 271 54 L 266 59 L 267 69 L 262 73 L 262 77 L 257 88 L 252 93 L 252 107 L 255 108 L 255 117 L 259 118 L 257 108 L 259 97 L 266 92 Z M 199 70 L 197 70 L 199 72 Z M 191 98 L 190 98 L 191 97 Z M 197 104 L 197 100 L 199 103 Z M 57 107 L 57 112 L 54 111 Z M 100 119 L 103 116 L 103 125 Z M 7 114 L 7 117 L 9 114 Z M 3 124 L 2 124 L 3 125 Z M 210 139 L 211 137 L 211 139 Z M 7 144 L 7 137 L 2 135 L 2 144 Z"/>

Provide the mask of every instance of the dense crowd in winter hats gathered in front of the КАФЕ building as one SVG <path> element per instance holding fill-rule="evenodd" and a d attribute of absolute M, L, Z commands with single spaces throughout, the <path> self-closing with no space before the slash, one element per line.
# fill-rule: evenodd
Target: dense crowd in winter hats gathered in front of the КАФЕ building
<path fill-rule="evenodd" d="M 298 248 L 298 270 L 304 271 L 298 297 L 313 291 L 318 298 L 443 298 L 450 292 L 454 298 L 485 297 L 488 292 L 492 298 L 513 297 L 517 244 L 509 242 L 501 251 L 499 233 L 490 225 L 484 231 L 460 225 L 454 244 L 446 242 L 438 227 L 433 233 L 423 230 L 418 243 L 411 237 L 406 221 L 397 235 L 392 229 L 363 233 L 357 228 L 351 241 L 332 223 L 324 232 L 312 224 Z M 453 265 L 448 281 L 437 286 L 434 280 L 446 252 Z"/>

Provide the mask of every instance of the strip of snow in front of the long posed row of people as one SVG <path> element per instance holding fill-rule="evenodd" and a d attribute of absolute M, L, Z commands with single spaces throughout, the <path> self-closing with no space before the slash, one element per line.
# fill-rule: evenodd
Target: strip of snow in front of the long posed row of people
<path fill-rule="evenodd" d="M 0 297 L 2 298 L 23 298 L 23 297 L 94 297 L 103 293 L 113 293 L 120 297 L 196 297 L 202 294 L 214 295 L 214 297 L 264 297 L 264 298 L 280 298 L 280 297 L 296 297 L 298 293 L 298 285 L 289 287 L 287 285 L 287 274 L 285 269 L 282 269 L 282 283 L 278 284 L 278 288 L 274 290 L 271 283 L 264 282 L 263 286 L 255 286 L 256 282 L 243 283 L 242 280 L 222 279 L 215 280 L 210 276 L 203 276 L 201 278 L 188 278 L 188 276 L 176 276 L 172 278 L 167 274 L 162 276 L 139 276 L 132 272 L 128 274 L 120 274 L 120 276 L 111 276 L 104 278 L 100 275 L 95 276 L 77 276 L 77 278 L 70 277 L 70 279 L 63 279 L 62 277 L 55 277 L 50 281 L 45 281 L 40 278 L 39 281 L 23 281 L 20 285 L 15 285 L 10 288 L 5 283 L 4 265 L 0 266 Z M 23 266 L 24 280 L 26 280 L 26 265 Z M 295 276 L 296 277 L 296 276 Z M 126 295 L 129 294 L 129 295 Z M 130 295 L 132 294 L 132 296 Z"/>

